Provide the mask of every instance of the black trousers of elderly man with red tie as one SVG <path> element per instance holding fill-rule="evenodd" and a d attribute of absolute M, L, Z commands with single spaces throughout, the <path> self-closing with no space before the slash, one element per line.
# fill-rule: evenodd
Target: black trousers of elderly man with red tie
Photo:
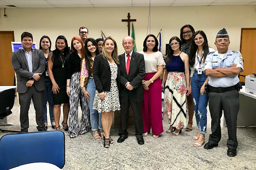
<path fill-rule="evenodd" d="M 134 102 L 128 98 L 127 103 L 120 103 L 121 105 L 121 123 L 119 128 L 119 135 L 127 137 L 128 136 L 128 114 L 129 107 L 131 106 L 133 117 L 134 117 L 134 126 L 135 126 L 135 136 L 136 138 L 142 138 L 143 133 L 143 120 L 142 120 L 142 101 Z"/>

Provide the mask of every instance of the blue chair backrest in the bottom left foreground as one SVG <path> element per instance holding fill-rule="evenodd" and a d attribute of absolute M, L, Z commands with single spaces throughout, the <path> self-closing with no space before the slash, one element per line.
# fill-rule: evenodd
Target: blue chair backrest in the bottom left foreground
<path fill-rule="evenodd" d="M 0 169 L 46 162 L 63 168 L 65 136 L 62 131 L 42 131 L 4 135 L 0 139 Z"/>

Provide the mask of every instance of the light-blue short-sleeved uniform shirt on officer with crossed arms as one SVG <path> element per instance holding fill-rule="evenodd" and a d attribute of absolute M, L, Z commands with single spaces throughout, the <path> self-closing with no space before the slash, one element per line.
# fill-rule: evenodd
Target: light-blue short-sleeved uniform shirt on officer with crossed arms
<path fill-rule="evenodd" d="M 236 67 L 240 67 L 241 71 L 243 68 L 243 58 L 239 51 L 228 50 L 223 58 L 220 57 L 218 51 L 209 52 L 205 60 L 204 71 L 206 69 L 216 69 L 216 68 L 229 68 L 233 64 L 237 64 Z M 211 77 L 209 76 L 208 84 L 213 87 L 230 87 L 236 85 L 239 82 L 239 78 L 236 75 L 229 75 L 225 77 Z"/>

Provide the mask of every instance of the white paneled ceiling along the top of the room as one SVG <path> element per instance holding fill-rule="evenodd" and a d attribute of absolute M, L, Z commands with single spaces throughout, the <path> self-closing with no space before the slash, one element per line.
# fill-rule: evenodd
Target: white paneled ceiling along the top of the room
<path fill-rule="evenodd" d="M 0 8 L 149 6 L 150 0 L 0 0 Z M 256 5 L 256 0 L 151 0 L 151 6 Z"/>

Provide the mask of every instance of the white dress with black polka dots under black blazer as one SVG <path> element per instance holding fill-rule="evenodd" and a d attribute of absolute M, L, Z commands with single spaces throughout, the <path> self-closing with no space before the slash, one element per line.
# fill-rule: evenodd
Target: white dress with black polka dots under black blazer
<path fill-rule="evenodd" d="M 108 64 L 110 66 L 111 71 L 110 92 L 105 92 L 105 99 L 102 101 L 100 99 L 98 90 L 96 90 L 93 101 L 93 109 L 98 110 L 99 112 L 110 112 L 111 110 L 120 110 L 119 93 L 116 83 L 117 65 L 115 62 L 114 65 L 112 65 L 109 61 Z"/>

